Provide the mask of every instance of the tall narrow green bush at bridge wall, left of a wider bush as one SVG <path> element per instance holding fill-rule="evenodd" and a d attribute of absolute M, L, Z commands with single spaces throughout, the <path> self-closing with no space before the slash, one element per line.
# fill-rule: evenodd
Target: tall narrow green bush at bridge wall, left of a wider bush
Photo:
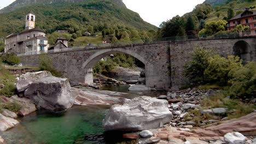
<path fill-rule="evenodd" d="M 184 66 L 184 74 L 192 81 L 205 81 L 205 70 L 208 67 L 210 51 L 204 47 L 196 46 L 190 53 L 191 61 Z"/>

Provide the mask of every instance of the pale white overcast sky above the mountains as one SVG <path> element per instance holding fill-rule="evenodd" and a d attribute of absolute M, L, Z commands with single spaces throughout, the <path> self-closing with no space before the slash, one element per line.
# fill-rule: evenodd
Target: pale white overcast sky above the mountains
<path fill-rule="evenodd" d="M 7 7 L 15 0 L 1 0 L 0 9 Z M 205 0 L 123 0 L 126 7 L 137 12 L 144 21 L 159 26 L 161 22 L 182 16 L 192 11 L 197 4 Z"/>

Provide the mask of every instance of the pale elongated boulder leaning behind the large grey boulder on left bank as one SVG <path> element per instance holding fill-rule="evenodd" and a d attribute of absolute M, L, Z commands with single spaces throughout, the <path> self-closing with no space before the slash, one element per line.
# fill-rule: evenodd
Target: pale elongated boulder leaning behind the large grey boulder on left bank
<path fill-rule="evenodd" d="M 31 85 L 31 83 L 47 76 L 52 76 L 49 71 L 38 71 L 36 73 L 26 73 L 20 75 L 19 80 L 16 83 L 18 94 L 21 97 L 24 96 L 23 92 Z"/>

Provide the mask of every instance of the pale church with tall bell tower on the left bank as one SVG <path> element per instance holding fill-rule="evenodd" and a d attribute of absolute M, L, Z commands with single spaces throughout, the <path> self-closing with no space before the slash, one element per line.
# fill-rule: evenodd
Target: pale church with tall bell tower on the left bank
<path fill-rule="evenodd" d="M 16 55 L 36 55 L 48 52 L 48 38 L 42 29 L 35 28 L 36 15 L 30 11 L 26 15 L 25 30 L 10 34 L 4 41 L 4 52 Z"/>

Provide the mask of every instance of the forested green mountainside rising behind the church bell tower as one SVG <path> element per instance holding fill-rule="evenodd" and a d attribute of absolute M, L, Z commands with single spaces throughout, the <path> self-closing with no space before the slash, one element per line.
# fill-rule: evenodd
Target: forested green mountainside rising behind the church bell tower
<path fill-rule="evenodd" d="M 11 4 L 16 5 L 15 7 L 7 7 L 13 10 L 0 14 L 0 37 L 21 32 L 25 28 L 25 15 L 30 10 L 36 14 L 36 27 L 47 33 L 62 29 L 73 33 L 89 26 L 97 31 L 102 31 L 106 26 L 157 29 L 143 21 L 137 13 L 127 9 L 121 0 L 53 0 L 51 2 L 54 3 L 51 4 L 42 4 L 44 1 L 50 2 L 49 0 L 34 3 L 35 1 L 15 1 Z M 28 6 L 19 5 L 21 2 L 26 2 Z"/>

